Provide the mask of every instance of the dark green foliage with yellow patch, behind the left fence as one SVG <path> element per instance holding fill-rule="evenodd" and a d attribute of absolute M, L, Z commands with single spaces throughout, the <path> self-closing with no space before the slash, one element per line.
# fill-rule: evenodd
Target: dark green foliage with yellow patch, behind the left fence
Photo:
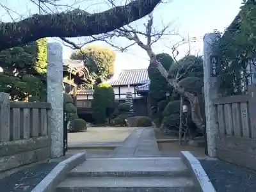
<path fill-rule="evenodd" d="M 12 100 L 45 100 L 47 40 L 39 39 L 22 47 L 0 52 L 0 91 L 10 93 Z"/>

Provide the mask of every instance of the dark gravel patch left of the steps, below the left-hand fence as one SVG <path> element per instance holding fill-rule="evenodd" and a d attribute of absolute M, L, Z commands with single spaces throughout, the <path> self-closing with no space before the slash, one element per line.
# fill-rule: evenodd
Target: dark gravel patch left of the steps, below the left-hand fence
<path fill-rule="evenodd" d="M 58 163 L 42 163 L 0 180 L 2 192 L 30 192 Z"/>

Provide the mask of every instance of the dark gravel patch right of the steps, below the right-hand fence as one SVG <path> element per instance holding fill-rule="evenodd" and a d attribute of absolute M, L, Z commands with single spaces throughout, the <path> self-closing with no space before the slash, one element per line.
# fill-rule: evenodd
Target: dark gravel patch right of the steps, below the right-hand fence
<path fill-rule="evenodd" d="M 217 192 L 255 192 L 256 172 L 220 160 L 200 160 Z"/>

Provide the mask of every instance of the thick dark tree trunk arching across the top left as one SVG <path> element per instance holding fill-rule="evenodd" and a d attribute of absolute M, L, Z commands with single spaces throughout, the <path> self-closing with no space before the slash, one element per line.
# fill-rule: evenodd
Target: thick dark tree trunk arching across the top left
<path fill-rule="evenodd" d="M 32 15 L 19 22 L 0 23 L 0 51 L 44 37 L 76 37 L 106 33 L 152 12 L 160 0 L 135 0 L 101 13 L 83 10 Z"/>

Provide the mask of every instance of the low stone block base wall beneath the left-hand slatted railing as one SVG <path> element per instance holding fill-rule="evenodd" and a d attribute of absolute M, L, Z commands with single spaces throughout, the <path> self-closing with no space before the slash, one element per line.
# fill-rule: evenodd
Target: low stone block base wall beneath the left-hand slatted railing
<path fill-rule="evenodd" d="M 50 157 L 49 136 L 0 143 L 0 172 Z"/>

